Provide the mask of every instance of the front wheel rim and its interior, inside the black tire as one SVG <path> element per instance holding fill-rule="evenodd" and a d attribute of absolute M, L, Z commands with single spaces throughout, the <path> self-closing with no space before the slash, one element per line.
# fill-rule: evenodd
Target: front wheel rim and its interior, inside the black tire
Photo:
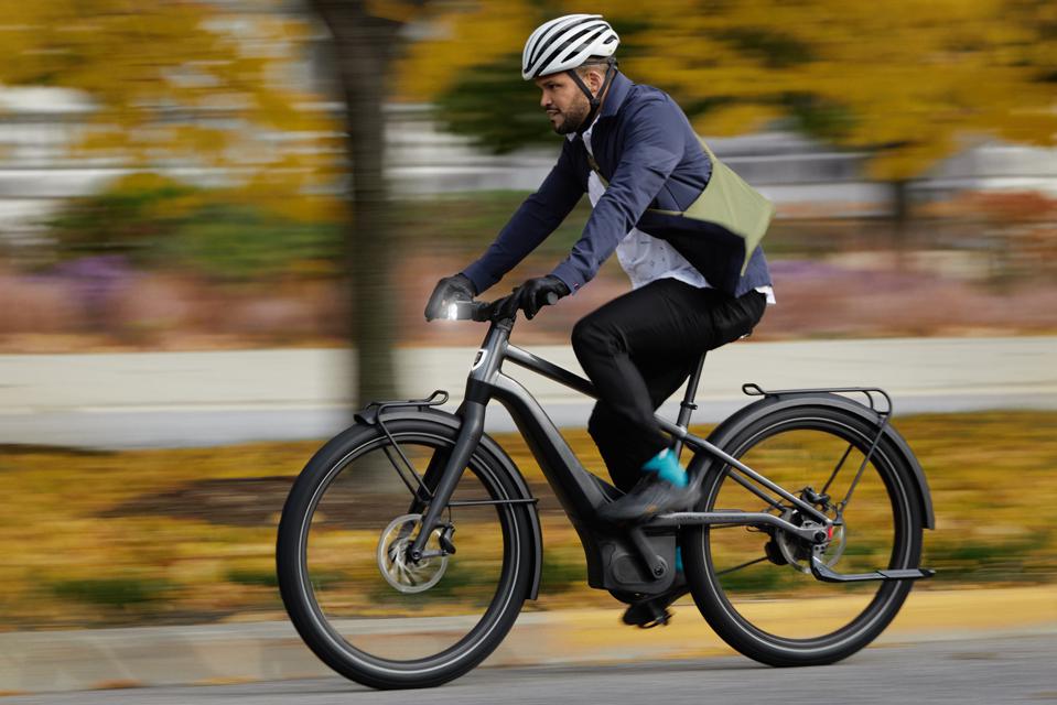
<path fill-rule="evenodd" d="M 450 438 L 420 432 L 393 434 L 400 451 L 422 476 Z M 385 457 L 386 449 L 389 457 Z M 451 668 L 468 657 L 517 599 L 519 544 L 509 507 L 451 507 L 443 520 L 454 527 L 456 553 L 423 561 L 410 579 L 387 565 L 420 524 L 408 517 L 423 508 L 399 481 L 364 487 L 364 468 L 377 474 L 399 457 L 377 437 L 335 463 L 319 484 L 304 518 L 302 570 L 319 627 L 342 646 L 344 657 L 373 670 L 428 671 Z M 360 470 L 360 471 L 357 471 Z M 389 467 L 389 471 L 395 470 Z M 501 499 L 498 479 L 476 456 L 452 502 Z M 427 550 L 439 549 L 436 532 Z M 401 590 L 401 582 L 413 590 Z M 396 583 L 396 584 L 395 584 Z"/>

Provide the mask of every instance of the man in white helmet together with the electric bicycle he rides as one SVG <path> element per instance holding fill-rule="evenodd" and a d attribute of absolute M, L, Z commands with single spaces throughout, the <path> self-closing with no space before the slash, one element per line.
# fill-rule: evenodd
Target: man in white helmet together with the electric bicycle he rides
<path fill-rule="evenodd" d="M 539 594 L 538 497 L 484 433 L 492 400 L 517 422 L 571 520 L 587 585 L 626 604 L 627 625 L 668 623 L 668 607 L 692 590 L 738 652 L 776 666 L 823 665 L 871 643 L 913 582 L 932 575 L 918 567 L 923 530 L 935 525 L 928 485 L 889 423 L 884 390 L 745 384 L 756 401 L 708 441 L 689 431 L 689 409 L 678 423 L 655 421 L 688 376 L 692 402 L 705 350 L 747 334 L 763 315 L 772 294 L 758 243 L 774 208 L 712 155 L 667 95 L 617 72 L 617 41 L 598 15 L 578 14 L 543 24 L 525 46 L 522 75 L 567 139 L 539 191 L 483 257 L 438 283 L 427 305 L 427 318 L 489 324 L 460 409 L 436 409 L 447 401 L 443 390 L 369 403 L 312 456 L 283 506 L 276 544 L 283 606 L 313 652 L 354 681 L 393 688 L 459 677 Z M 498 282 L 584 193 L 593 213 L 550 274 L 492 304 L 451 305 Z M 572 333 L 593 384 L 509 344 L 518 311 L 531 318 L 576 292 L 614 251 L 632 291 Z M 598 399 L 589 430 L 623 496 L 587 473 L 539 401 L 504 373 L 508 361 Z M 661 427 L 693 453 L 689 480 Z M 358 497 L 364 468 L 384 465 L 407 492 Z M 691 488 L 699 486 L 698 498 Z M 375 527 L 371 551 L 360 539 Z M 849 536 L 858 549 L 845 552 Z M 845 555 L 853 560 L 840 565 Z M 474 579 L 445 573 L 450 564 Z M 871 564 L 880 566 L 861 567 Z M 854 595 L 849 584 L 860 585 Z M 746 585 L 779 586 L 788 601 L 761 611 Z M 810 618 L 790 625 L 790 610 Z M 381 640 L 378 619 L 358 618 L 408 614 L 414 626 Z"/>

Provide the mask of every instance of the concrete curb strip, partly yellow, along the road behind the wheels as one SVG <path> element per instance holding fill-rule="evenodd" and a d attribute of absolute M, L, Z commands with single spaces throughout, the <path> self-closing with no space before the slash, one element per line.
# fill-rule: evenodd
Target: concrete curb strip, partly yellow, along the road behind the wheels
<path fill-rule="evenodd" d="M 762 600 L 761 609 L 783 610 L 790 620 L 812 618 L 776 600 Z M 670 626 L 650 630 L 619 623 L 616 604 L 607 610 L 524 612 L 484 665 L 575 665 L 734 653 L 709 629 L 690 598 L 680 600 L 675 611 Z M 412 619 L 388 626 L 390 631 L 420 630 L 430 638 L 452 630 L 452 622 Z M 381 623 L 371 620 L 376 630 Z M 1053 586 L 918 590 L 875 643 L 1038 633 L 1057 634 Z M 0 634 L 0 695 L 332 675 L 284 621 Z"/>

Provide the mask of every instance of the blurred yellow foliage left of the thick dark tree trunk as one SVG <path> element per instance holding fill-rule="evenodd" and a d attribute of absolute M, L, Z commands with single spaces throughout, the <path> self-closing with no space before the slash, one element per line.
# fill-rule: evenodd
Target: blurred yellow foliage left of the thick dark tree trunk
<path fill-rule="evenodd" d="M 69 88 L 90 101 L 78 156 L 216 169 L 284 215 L 334 214 L 333 198 L 313 194 L 334 178 L 326 135 L 336 129 L 301 107 L 313 97 L 284 75 L 304 23 L 190 1 L 0 0 L 0 85 Z"/>

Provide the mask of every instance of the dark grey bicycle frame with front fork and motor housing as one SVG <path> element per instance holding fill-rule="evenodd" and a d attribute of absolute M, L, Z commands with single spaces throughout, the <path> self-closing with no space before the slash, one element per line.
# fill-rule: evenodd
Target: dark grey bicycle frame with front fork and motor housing
<path fill-rule="evenodd" d="M 657 588 L 666 589 L 675 573 L 669 567 L 675 553 L 675 535 L 678 528 L 682 525 L 769 525 L 811 542 L 821 543 L 826 540 L 827 532 L 833 522 L 824 513 L 688 431 L 690 412 L 695 408 L 693 395 L 697 392 L 701 364 L 690 379 L 678 421 L 673 423 L 660 415 L 656 416 L 661 429 L 673 437 L 677 452 L 681 449 L 681 445 L 687 445 L 695 452 L 703 452 L 719 458 L 725 467 L 731 468 L 727 471 L 733 479 L 751 492 L 767 503 L 774 505 L 778 500 L 767 495 L 765 490 L 769 490 L 781 500 L 797 507 L 810 521 L 800 527 L 770 513 L 745 511 L 675 512 L 660 514 L 647 523 L 625 529 L 601 520 L 597 517 L 597 509 L 619 497 L 619 490 L 584 469 L 536 398 L 517 380 L 503 372 L 503 364 L 509 360 L 593 399 L 597 399 L 597 393 L 589 380 L 510 345 L 509 336 L 513 326 L 511 319 L 492 322 L 477 350 L 466 380 L 463 403 L 456 412 L 456 415 L 462 419 L 462 429 L 446 458 L 433 496 L 429 500 L 422 529 L 410 547 L 409 553 L 412 560 L 422 557 L 430 532 L 438 525 L 442 512 L 451 501 L 463 469 L 481 441 L 484 432 L 485 409 L 493 399 L 501 403 L 513 416 L 559 502 L 580 534 L 587 556 L 589 584 L 592 587 L 627 587 L 626 581 L 614 585 L 614 579 L 607 576 L 603 565 L 604 561 L 601 557 L 603 549 L 611 547 L 612 560 L 612 547 L 615 546 L 637 555 L 647 567 L 648 576 L 641 581 L 641 584 L 635 584 L 637 588 L 650 592 Z M 703 364 L 703 357 L 701 362 Z M 703 477 L 691 476 L 691 482 L 697 486 L 700 486 Z M 759 486 L 765 489 L 761 489 Z M 500 502 L 501 500 L 495 503 Z M 635 583 L 634 579 L 633 583 Z"/>

